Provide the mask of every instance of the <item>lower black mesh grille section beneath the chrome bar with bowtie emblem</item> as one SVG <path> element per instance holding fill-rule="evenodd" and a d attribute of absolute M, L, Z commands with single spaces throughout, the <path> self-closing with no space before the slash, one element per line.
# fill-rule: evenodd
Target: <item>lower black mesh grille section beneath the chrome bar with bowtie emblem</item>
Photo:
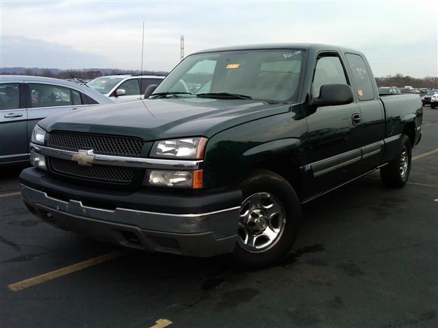
<path fill-rule="evenodd" d="M 57 174 L 117 183 L 131 183 L 136 173 L 136 169 L 131 167 L 109 165 L 82 166 L 73 161 L 55 159 L 53 157 L 49 158 L 49 167 L 52 172 Z"/>

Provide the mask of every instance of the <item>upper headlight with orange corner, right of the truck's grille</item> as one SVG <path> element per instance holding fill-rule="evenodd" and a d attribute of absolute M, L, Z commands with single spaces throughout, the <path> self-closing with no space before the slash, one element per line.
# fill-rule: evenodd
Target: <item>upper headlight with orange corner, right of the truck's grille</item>
<path fill-rule="evenodd" d="M 181 138 L 155 141 L 151 157 L 161 159 L 203 159 L 207 138 Z"/>

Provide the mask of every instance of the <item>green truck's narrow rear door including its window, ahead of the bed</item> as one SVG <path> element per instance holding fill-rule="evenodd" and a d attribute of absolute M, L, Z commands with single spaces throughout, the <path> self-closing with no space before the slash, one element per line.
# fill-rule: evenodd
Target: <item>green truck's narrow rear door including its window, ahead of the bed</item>
<path fill-rule="evenodd" d="M 376 83 L 366 60 L 356 53 L 346 53 L 345 56 L 361 110 L 361 170 L 367 172 L 381 162 L 385 109 L 376 92 Z"/>

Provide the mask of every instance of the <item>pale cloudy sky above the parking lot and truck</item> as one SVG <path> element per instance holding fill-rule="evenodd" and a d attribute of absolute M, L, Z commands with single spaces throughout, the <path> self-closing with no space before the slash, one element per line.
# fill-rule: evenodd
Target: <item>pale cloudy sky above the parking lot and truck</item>
<path fill-rule="evenodd" d="M 365 53 L 376 77 L 438 76 L 438 1 L 0 0 L 0 67 L 169 71 L 239 44 L 315 42 Z"/>

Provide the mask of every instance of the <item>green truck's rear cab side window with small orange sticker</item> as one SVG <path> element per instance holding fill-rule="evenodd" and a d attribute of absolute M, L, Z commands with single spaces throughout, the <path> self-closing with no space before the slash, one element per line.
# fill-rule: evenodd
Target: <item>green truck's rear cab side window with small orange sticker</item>
<path fill-rule="evenodd" d="M 352 73 L 352 79 L 355 82 L 356 94 L 359 100 L 374 99 L 374 87 L 368 66 L 360 55 L 355 53 L 345 54 Z"/>

